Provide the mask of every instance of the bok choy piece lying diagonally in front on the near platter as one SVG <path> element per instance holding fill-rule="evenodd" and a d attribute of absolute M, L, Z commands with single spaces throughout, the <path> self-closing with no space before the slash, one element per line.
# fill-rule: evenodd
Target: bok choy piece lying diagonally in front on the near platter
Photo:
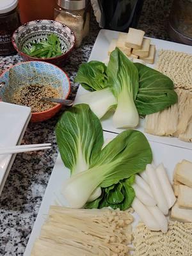
<path fill-rule="evenodd" d="M 152 152 L 139 131 L 124 131 L 113 139 L 92 162 L 90 169 L 73 175 L 63 188 L 70 207 L 83 207 L 96 188 L 108 188 L 136 173 L 152 161 Z"/>

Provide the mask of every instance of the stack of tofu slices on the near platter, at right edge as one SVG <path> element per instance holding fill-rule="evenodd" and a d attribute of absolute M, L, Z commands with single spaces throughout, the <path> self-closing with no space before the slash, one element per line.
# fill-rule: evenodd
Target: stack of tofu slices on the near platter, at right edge
<path fill-rule="evenodd" d="M 192 163 L 182 160 L 175 166 L 173 189 L 177 202 L 172 207 L 173 220 L 192 222 Z"/>

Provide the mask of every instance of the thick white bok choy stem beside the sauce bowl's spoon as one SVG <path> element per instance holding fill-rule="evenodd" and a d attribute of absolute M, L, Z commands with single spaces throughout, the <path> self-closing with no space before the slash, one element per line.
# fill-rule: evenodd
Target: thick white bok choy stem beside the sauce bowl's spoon
<path fill-rule="evenodd" d="M 81 103 L 88 104 L 99 119 L 102 118 L 112 106 L 117 104 L 115 96 L 109 88 L 79 95 L 75 101 L 75 105 Z"/>

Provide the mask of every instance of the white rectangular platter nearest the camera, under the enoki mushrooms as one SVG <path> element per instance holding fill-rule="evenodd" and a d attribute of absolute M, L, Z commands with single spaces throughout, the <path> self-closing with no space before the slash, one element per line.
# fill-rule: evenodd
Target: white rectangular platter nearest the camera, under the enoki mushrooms
<path fill-rule="evenodd" d="M 116 135 L 117 134 L 112 132 L 104 132 L 104 139 L 115 138 Z M 154 141 L 149 141 L 149 143 L 150 147 L 152 148 L 154 163 L 164 163 L 170 180 L 172 180 L 173 169 L 177 163 L 182 161 L 182 159 L 192 161 L 192 151 L 189 149 L 172 147 L 170 145 L 165 145 Z M 49 183 L 40 206 L 40 211 L 38 212 L 38 216 L 31 232 L 31 236 L 29 237 L 24 256 L 31 255 L 31 249 L 35 239 L 40 235 L 40 230 L 49 212 L 50 205 L 57 205 L 57 202 L 67 205 L 65 198 L 63 198 L 61 195 L 61 189 L 63 188 L 63 183 L 68 179 L 69 176 L 70 172 L 64 166 L 59 154 L 58 158 L 56 159 L 54 169 L 52 170 L 51 178 L 49 179 Z M 139 221 L 139 217 L 137 214 L 133 215 L 135 219 L 134 225 L 136 225 Z"/>

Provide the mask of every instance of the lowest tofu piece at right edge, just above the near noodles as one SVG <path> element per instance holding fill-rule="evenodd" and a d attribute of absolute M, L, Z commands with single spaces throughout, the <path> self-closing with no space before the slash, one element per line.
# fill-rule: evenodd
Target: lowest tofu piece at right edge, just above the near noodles
<path fill-rule="evenodd" d="M 172 207 L 171 216 L 172 220 L 182 221 L 182 222 L 192 222 L 192 210 L 191 209 L 181 209 L 176 202 Z"/>

